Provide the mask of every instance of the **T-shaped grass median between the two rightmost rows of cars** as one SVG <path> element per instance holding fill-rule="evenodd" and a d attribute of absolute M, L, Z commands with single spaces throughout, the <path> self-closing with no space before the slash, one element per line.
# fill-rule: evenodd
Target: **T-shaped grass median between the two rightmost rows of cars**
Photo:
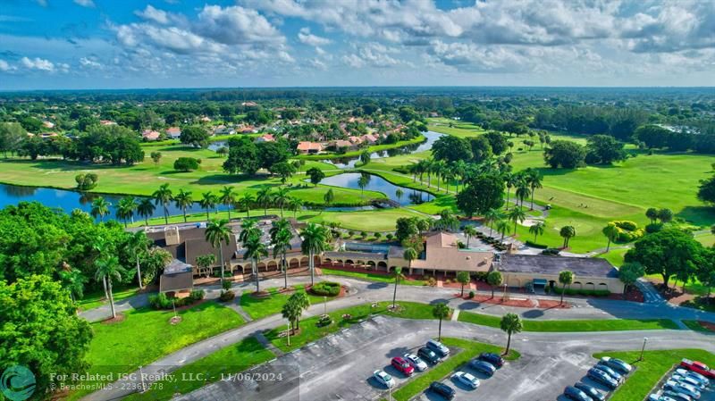
<path fill-rule="evenodd" d="M 602 352 L 594 354 L 594 358 L 611 356 L 622 359 L 635 366 L 633 372 L 610 397 L 610 401 L 642 400 L 650 394 L 651 389 L 673 365 L 683 358 L 700 361 L 710 366 L 715 364 L 715 355 L 702 349 L 669 349 L 666 351 L 645 351 L 644 360 L 638 362 L 641 351 Z"/>

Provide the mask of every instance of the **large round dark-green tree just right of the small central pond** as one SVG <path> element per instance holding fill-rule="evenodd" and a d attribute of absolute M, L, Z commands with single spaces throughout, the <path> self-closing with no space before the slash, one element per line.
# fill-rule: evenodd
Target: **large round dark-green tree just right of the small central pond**
<path fill-rule="evenodd" d="M 457 195 L 459 210 L 472 217 L 504 205 L 504 180 L 497 174 L 481 174 L 467 180 Z"/>

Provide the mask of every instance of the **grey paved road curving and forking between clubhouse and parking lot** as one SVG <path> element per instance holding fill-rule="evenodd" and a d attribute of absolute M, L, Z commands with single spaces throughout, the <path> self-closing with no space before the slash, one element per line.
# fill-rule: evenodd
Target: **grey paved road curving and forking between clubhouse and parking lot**
<path fill-rule="evenodd" d="M 329 278 L 329 277 L 327 277 Z M 304 280 L 309 280 L 305 278 Z M 344 282 L 349 288 L 349 296 L 336 299 L 329 302 L 327 309 L 329 311 L 341 309 L 350 305 L 357 305 L 366 302 L 376 302 L 391 300 L 392 288 L 390 285 L 385 283 L 366 283 L 361 280 L 351 280 L 347 278 L 340 278 L 341 282 Z M 280 280 L 276 280 L 280 281 Z M 299 280 L 292 280 L 291 282 L 296 282 Z M 272 286 L 271 281 L 266 281 L 267 286 Z M 278 284 L 280 285 L 280 283 Z M 250 284 L 242 284 L 241 286 L 250 286 Z M 574 299 L 572 302 L 575 307 L 568 309 L 549 309 L 549 310 L 538 310 L 530 309 L 525 310 L 523 308 L 509 308 L 501 305 L 489 305 L 489 304 L 479 304 L 472 301 L 465 301 L 459 298 L 454 298 L 453 294 L 456 292 L 454 288 L 430 288 L 430 287 L 414 287 L 414 286 L 401 286 L 398 291 L 398 298 L 405 301 L 415 301 L 422 303 L 436 303 L 436 302 L 448 302 L 450 306 L 458 308 L 461 311 L 472 311 L 478 313 L 490 313 L 501 315 L 506 312 L 517 311 L 522 316 L 526 318 L 537 318 L 543 320 L 558 320 L 558 319 L 608 319 L 608 318 L 670 318 L 670 319 L 707 319 L 715 320 L 715 313 L 704 313 L 702 311 L 697 311 L 694 309 L 680 308 L 677 306 L 672 306 L 669 304 L 638 304 L 632 302 L 624 301 L 613 301 L 613 300 L 601 300 L 601 299 Z M 209 294 L 214 292 L 209 291 Z M 306 315 L 320 314 L 324 311 L 324 305 L 313 305 L 311 306 Z M 144 367 L 144 372 L 148 374 L 156 374 L 161 372 L 170 372 L 175 366 L 183 365 L 185 363 L 194 362 L 206 355 L 213 353 L 214 351 L 221 349 L 223 347 L 228 347 L 231 344 L 239 342 L 241 339 L 248 336 L 254 335 L 257 332 L 272 329 L 283 323 L 282 317 L 280 315 L 268 316 L 265 319 L 261 319 L 254 322 L 248 322 L 243 326 L 223 332 L 212 338 L 206 338 L 203 341 L 199 341 L 189 347 L 184 347 L 181 350 L 167 355 L 164 358 L 151 363 Z M 485 327 L 473 326 L 466 323 L 451 322 L 451 325 L 458 325 L 458 327 L 467 327 L 469 330 L 467 332 L 472 332 L 477 330 L 480 333 L 479 338 L 486 342 L 492 342 L 500 344 L 502 341 L 502 334 L 499 330 L 492 330 Z M 484 338 L 484 335 L 491 333 L 489 337 Z M 660 333 L 660 334 L 659 334 Z M 686 338 L 695 338 L 700 342 L 707 341 L 709 346 L 712 347 L 712 338 L 699 333 L 694 333 L 690 331 L 648 331 L 649 338 L 652 336 L 662 336 L 665 341 L 664 348 L 672 347 L 695 347 L 695 343 L 687 343 Z M 458 336 L 463 337 L 463 336 Z M 627 347 L 619 349 L 631 349 L 637 347 L 638 344 L 632 344 L 633 339 L 636 338 L 636 343 L 639 342 L 643 336 L 638 332 L 628 331 L 628 332 L 600 332 L 600 333 L 587 333 L 587 334 L 576 334 L 576 333 L 554 333 L 552 335 L 548 334 L 537 334 L 529 333 L 528 336 L 523 336 L 522 338 L 528 338 L 532 342 L 530 344 L 538 344 L 539 340 L 545 338 L 545 343 L 542 347 L 545 349 L 562 347 L 567 338 L 586 338 L 587 342 L 592 345 L 600 345 L 601 348 L 598 349 L 610 349 L 615 346 L 622 346 L 623 344 L 628 344 Z M 582 340 L 576 340 L 577 344 L 583 344 Z M 618 343 L 618 344 L 616 344 Z M 711 348 L 708 348 L 711 349 Z M 110 400 L 118 397 L 126 396 L 130 394 L 131 391 L 122 389 L 130 388 L 126 386 L 126 381 L 116 382 L 115 386 L 109 386 L 105 389 L 97 391 L 85 397 L 86 400 Z"/>

